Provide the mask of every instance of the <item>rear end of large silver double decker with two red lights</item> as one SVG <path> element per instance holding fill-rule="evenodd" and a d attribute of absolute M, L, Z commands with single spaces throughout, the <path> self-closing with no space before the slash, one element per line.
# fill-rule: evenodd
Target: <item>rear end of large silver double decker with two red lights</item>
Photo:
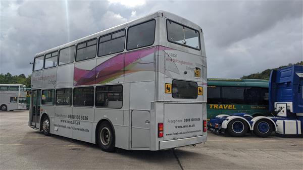
<path fill-rule="evenodd" d="M 156 56 L 156 123 L 159 149 L 207 140 L 207 65 L 203 32 L 195 24 L 166 19 L 166 46 Z"/>

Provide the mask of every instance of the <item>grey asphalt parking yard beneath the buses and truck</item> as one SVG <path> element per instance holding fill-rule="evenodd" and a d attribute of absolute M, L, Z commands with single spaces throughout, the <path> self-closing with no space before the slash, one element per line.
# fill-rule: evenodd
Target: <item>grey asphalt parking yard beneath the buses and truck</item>
<path fill-rule="evenodd" d="M 0 111 L 0 169 L 303 169 L 303 138 L 208 133 L 205 144 L 175 150 L 107 153 L 96 145 L 44 136 L 28 111 Z"/>

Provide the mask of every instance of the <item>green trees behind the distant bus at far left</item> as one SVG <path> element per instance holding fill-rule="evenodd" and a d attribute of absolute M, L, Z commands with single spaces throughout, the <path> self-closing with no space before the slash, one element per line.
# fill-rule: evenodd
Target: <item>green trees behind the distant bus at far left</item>
<path fill-rule="evenodd" d="M 11 73 L 0 74 L 1 84 L 24 84 L 26 87 L 30 87 L 31 75 L 25 76 L 20 74 L 19 76 L 12 76 Z"/>

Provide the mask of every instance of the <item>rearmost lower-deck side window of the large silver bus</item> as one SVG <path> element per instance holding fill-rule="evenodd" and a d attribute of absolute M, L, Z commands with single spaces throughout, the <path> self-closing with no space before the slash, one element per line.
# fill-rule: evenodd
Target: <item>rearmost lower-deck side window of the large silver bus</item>
<path fill-rule="evenodd" d="M 123 86 L 97 86 L 96 107 L 122 108 Z"/>

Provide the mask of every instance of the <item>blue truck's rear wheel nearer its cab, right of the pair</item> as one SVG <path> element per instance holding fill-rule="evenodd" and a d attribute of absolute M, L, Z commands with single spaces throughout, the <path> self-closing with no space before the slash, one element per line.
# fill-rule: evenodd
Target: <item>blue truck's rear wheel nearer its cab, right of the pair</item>
<path fill-rule="evenodd" d="M 254 133 L 258 137 L 265 138 L 272 134 L 273 129 L 274 129 L 274 127 L 270 120 L 261 119 L 256 122 L 256 124 L 254 126 Z"/>

